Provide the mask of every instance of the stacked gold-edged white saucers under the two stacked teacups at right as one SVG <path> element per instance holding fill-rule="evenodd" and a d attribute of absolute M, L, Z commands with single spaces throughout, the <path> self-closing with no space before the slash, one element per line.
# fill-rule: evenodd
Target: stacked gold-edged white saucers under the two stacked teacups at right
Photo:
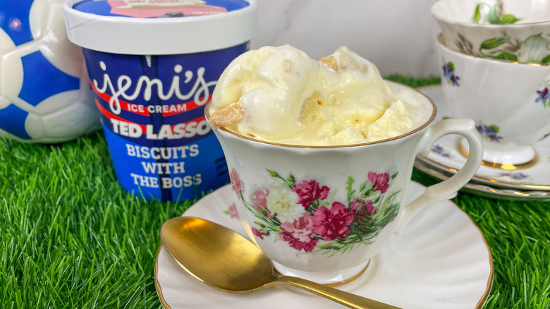
<path fill-rule="evenodd" d="M 420 87 L 425 95 L 430 97 L 437 107 L 436 121 L 452 117 L 444 104 L 445 98 L 441 86 Z M 446 174 L 454 174 L 464 165 L 466 158 L 460 153 L 458 135 L 447 135 L 441 138 L 432 148 L 428 156 L 419 155 L 417 160 L 424 166 L 443 171 Z M 520 195 L 532 195 L 549 198 L 550 191 L 550 138 L 546 138 L 534 145 L 537 152 L 537 162 L 525 169 L 505 170 L 492 166 L 479 166 L 472 181 L 485 184 L 491 188 L 507 188 L 518 190 Z M 534 191 L 534 192 L 530 192 Z M 546 193 L 542 193 L 546 192 Z M 542 194 L 540 194 L 542 193 Z"/>

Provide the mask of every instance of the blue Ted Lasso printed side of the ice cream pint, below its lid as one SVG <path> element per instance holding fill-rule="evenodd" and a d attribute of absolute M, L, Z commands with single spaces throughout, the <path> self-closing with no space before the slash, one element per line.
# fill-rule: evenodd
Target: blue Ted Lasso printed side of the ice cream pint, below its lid
<path fill-rule="evenodd" d="M 246 43 L 157 56 L 83 49 L 116 176 L 126 190 L 177 202 L 228 183 L 204 105 L 224 68 L 246 50 Z"/>

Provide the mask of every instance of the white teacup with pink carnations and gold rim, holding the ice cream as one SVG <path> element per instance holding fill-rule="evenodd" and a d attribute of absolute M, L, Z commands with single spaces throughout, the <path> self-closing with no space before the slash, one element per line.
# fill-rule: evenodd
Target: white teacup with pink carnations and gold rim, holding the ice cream
<path fill-rule="evenodd" d="M 431 115 L 424 115 L 422 126 L 388 140 L 304 147 L 214 128 L 239 217 L 282 274 L 323 284 L 353 278 L 416 212 L 453 198 L 477 171 L 482 145 L 471 119 L 429 126 L 436 114 L 433 102 L 412 88 L 389 85 L 422 102 Z M 465 167 L 405 207 L 416 154 L 427 154 L 437 139 L 453 133 L 470 143 Z"/>

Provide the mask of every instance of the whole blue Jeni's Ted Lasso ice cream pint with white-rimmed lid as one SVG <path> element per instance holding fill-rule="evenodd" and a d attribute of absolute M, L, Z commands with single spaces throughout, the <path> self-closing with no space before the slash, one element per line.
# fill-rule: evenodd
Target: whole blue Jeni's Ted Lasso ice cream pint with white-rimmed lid
<path fill-rule="evenodd" d="M 204 105 L 249 47 L 255 0 L 69 0 L 63 12 L 123 188 L 179 202 L 228 183 Z"/>

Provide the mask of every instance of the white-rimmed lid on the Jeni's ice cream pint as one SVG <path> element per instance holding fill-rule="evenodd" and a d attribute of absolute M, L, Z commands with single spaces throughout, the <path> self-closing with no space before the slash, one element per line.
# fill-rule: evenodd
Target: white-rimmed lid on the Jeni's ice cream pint
<path fill-rule="evenodd" d="M 68 0 L 68 39 L 114 54 L 191 54 L 233 47 L 256 32 L 256 0 Z"/>

